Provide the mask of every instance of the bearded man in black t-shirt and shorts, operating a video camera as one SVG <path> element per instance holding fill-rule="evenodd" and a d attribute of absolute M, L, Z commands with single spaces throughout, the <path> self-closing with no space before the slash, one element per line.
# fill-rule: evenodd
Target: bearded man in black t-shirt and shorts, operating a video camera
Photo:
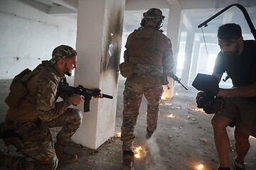
<path fill-rule="evenodd" d="M 234 170 L 242 170 L 250 148 L 248 139 L 250 135 L 256 137 L 256 42 L 243 40 L 240 26 L 228 23 L 218 28 L 218 45 L 221 51 L 213 76 L 220 82 L 226 72 L 233 82 L 233 88 L 219 89 L 217 96 L 225 97 L 225 106 L 211 120 L 220 162 L 218 170 L 230 170 L 228 126 L 235 126 Z M 199 92 L 197 98 L 201 95 Z"/>

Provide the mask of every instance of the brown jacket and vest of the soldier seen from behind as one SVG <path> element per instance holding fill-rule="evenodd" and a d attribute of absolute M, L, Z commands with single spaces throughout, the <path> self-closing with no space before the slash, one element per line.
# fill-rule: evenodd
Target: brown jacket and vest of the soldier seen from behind
<path fill-rule="evenodd" d="M 132 62 L 135 65 L 139 64 L 139 67 L 135 67 L 135 73 L 149 73 L 151 72 L 150 70 L 153 70 L 154 73 L 152 76 L 154 76 L 156 69 L 159 68 L 159 72 L 165 69 L 166 74 L 169 75 L 174 69 L 174 53 L 171 40 L 159 30 L 154 30 L 153 28 L 139 28 L 138 30 L 134 30 L 128 36 L 125 47 L 127 50 L 124 51 L 124 61 Z M 136 68 L 139 68 L 139 70 L 136 70 Z M 147 70 L 142 70 L 143 68 Z M 156 82 L 158 79 L 155 77 L 146 77 L 145 81 Z M 137 77 L 137 74 L 134 74 L 133 77 L 127 80 L 143 81 L 143 77 Z"/>

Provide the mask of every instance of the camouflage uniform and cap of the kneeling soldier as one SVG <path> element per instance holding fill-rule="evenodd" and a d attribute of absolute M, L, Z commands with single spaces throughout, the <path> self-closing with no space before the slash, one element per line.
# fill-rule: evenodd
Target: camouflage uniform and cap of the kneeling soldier
<path fill-rule="evenodd" d="M 65 45 L 56 47 L 52 60 L 43 61 L 31 72 L 36 74 L 26 82 L 28 94 L 18 108 L 9 108 L 6 121 L 1 124 L 1 130 L 15 130 L 18 135 L 5 138 L 4 142 L 14 145 L 16 151 L 25 156 L 24 159 L 6 155 L 6 166 L 11 169 L 56 169 L 58 158 L 49 128 L 63 127 L 56 143 L 65 146 L 82 123 L 82 113 L 68 108 L 73 103 L 71 94 L 57 92 L 58 84 L 67 82 L 54 63 L 60 58 L 75 57 L 75 50 L 70 48 Z M 57 102 L 59 96 L 63 101 Z"/>

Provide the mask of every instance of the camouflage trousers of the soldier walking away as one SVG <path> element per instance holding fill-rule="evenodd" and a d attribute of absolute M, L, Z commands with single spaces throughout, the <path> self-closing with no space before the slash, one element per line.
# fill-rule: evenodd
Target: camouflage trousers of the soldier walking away
<path fill-rule="evenodd" d="M 161 84 L 136 84 L 125 82 L 124 87 L 124 110 L 121 128 L 121 140 L 123 150 L 132 148 L 135 138 L 134 127 L 137 124 L 139 106 L 144 95 L 147 101 L 146 125 L 149 131 L 154 132 L 159 118 L 159 101 L 163 88 Z"/>

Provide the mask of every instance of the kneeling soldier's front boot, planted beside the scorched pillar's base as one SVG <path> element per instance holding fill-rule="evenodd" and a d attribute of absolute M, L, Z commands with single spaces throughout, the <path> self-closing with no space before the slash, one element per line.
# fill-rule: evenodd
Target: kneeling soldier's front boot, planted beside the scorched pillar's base
<path fill-rule="evenodd" d="M 64 147 L 65 146 L 61 146 L 61 145 L 57 145 L 57 144 L 54 145 L 55 152 L 56 152 L 56 155 L 58 157 L 58 160 L 60 162 L 67 162 L 67 163 L 75 162 L 76 159 L 78 159 L 78 155 L 66 153 L 64 151 Z"/>

